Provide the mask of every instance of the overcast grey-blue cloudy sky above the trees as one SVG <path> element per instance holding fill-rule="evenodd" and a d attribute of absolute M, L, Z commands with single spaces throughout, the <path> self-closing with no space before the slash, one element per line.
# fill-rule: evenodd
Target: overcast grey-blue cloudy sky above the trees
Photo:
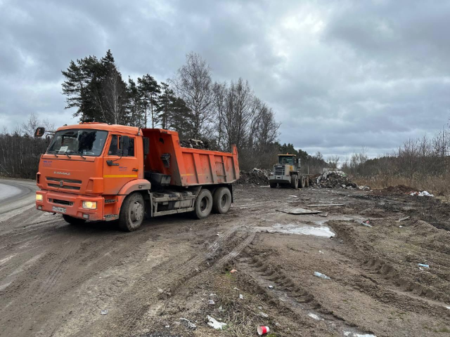
<path fill-rule="evenodd" d="M 345 157 L 433 136 L 450 115 L 450 1 L 0 0 L 0 126 L 76 122 L 70 60 L 110 48 L 126 79 L 172 77 L 200 53 L 248 79 L 280 140 Z"/>

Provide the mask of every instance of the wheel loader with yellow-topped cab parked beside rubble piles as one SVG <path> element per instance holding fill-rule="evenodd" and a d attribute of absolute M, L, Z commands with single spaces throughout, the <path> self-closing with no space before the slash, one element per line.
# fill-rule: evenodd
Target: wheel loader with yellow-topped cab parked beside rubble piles
<path fill-rule="evenodd" d="M 278 154 L 278 164 L 274 165 L 274 171 L 269 176 L 270 187 L 305 187 L 307 179 L 302 176 L 300 169 L 300 159 L 297 159 L 295 154 Z"/>

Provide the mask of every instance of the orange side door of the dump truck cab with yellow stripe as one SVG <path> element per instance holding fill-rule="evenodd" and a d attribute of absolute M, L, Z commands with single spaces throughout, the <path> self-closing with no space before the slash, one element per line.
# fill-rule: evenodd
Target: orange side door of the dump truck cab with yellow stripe
<path fill-rule="evenodd" d="M 104 194 L 117 194 L 129 181 L 139 177 L 139 162 L 136 157 L 136 137 L 129 136 L 127 156 L 120 156 L 119 143 L 122 135 L 113 134 L 107 144 L 108 152 L 103 158 Z"/>

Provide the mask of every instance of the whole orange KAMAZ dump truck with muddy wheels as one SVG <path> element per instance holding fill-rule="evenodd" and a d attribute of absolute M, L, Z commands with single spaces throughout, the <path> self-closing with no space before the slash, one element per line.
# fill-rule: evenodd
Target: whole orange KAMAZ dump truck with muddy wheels
<path fill-rule="evenodd" d="M 42 154 L 36 208 L 71 224 L 119 220 L 131 231 L 145 215 L 224 214 L 238 178 L 235 146 L 198 150 L 181 147 L 174 131 L 83 123 L 58 128 Z"/>

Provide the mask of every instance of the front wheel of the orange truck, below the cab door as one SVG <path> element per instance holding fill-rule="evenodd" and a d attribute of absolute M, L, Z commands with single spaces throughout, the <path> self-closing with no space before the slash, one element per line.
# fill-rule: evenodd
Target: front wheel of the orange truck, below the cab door
<path fill-rule="evenodd" d="M 132 232 L 141 227 L 145 213 L 142 194 L 134 192 L 124 199 L 120 208 L 119 227 L 125 232 Z"/>

